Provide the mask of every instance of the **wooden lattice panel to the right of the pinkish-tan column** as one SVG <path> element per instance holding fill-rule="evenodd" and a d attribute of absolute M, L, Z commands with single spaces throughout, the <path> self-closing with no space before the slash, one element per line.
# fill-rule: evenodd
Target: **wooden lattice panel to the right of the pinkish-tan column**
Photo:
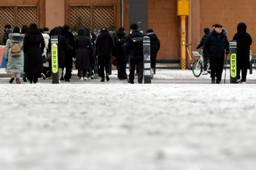
<path fill-rule="evenodd" d="M 99 30 L 102 26 L 115 26 L 115 5 L 69 5 L 71 30 L 86 27 Z"/>

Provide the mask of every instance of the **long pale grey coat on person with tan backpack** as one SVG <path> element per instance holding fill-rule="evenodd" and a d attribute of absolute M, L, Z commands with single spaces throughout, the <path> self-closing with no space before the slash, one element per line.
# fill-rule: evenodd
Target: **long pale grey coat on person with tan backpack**
<path fill-rule="evenodd" d="M 21 35 L 19 33 L 10 33 L 9 39 L 6 42 L 5 45 L 5 59 L 8 59 L 7 64 L 7 72 L 8 73 L 18 73 L 18 74 L 24 74 L 24 52 L 23 52 L 23 39 L 25 35 Z M 11 44 L 17 42 L 19 43 L 21 47 L 21 55 L 20 56 L 11 56 L 11 52 L 9 52 L 9 49 L 11 48 Z"/>

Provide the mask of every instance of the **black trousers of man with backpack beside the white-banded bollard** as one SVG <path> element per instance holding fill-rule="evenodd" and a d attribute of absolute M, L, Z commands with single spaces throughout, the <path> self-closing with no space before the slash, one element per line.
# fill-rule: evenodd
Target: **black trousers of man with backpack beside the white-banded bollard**
<path fill-rule="evenodd" d="M 137 65 L 138 71 L 138 82 L 142 83 L 143 81 L 143 59 L 130 59 L 130 74 L 129 79 L 130 81 L 134 81 L 134 72 Z"/>

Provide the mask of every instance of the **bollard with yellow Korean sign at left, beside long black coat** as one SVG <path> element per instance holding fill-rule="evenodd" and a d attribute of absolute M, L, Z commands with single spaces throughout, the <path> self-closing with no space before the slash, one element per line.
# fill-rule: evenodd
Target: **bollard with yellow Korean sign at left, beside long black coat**
<path fill-rule="evenodd" d="M 58 36 L 51 36 L 52 47 L 52 84 L 59 84 Z"/>

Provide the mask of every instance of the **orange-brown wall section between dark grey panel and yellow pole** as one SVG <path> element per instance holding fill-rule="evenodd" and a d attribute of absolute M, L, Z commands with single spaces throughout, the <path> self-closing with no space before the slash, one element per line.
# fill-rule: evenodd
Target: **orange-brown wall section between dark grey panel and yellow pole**
<path fill-rule="evenodd" d="M 180 59 L 180 17 L 177 0 L 148 0 L 148 28 L 158 36 L 161 48 L 157 59 Z"/>

